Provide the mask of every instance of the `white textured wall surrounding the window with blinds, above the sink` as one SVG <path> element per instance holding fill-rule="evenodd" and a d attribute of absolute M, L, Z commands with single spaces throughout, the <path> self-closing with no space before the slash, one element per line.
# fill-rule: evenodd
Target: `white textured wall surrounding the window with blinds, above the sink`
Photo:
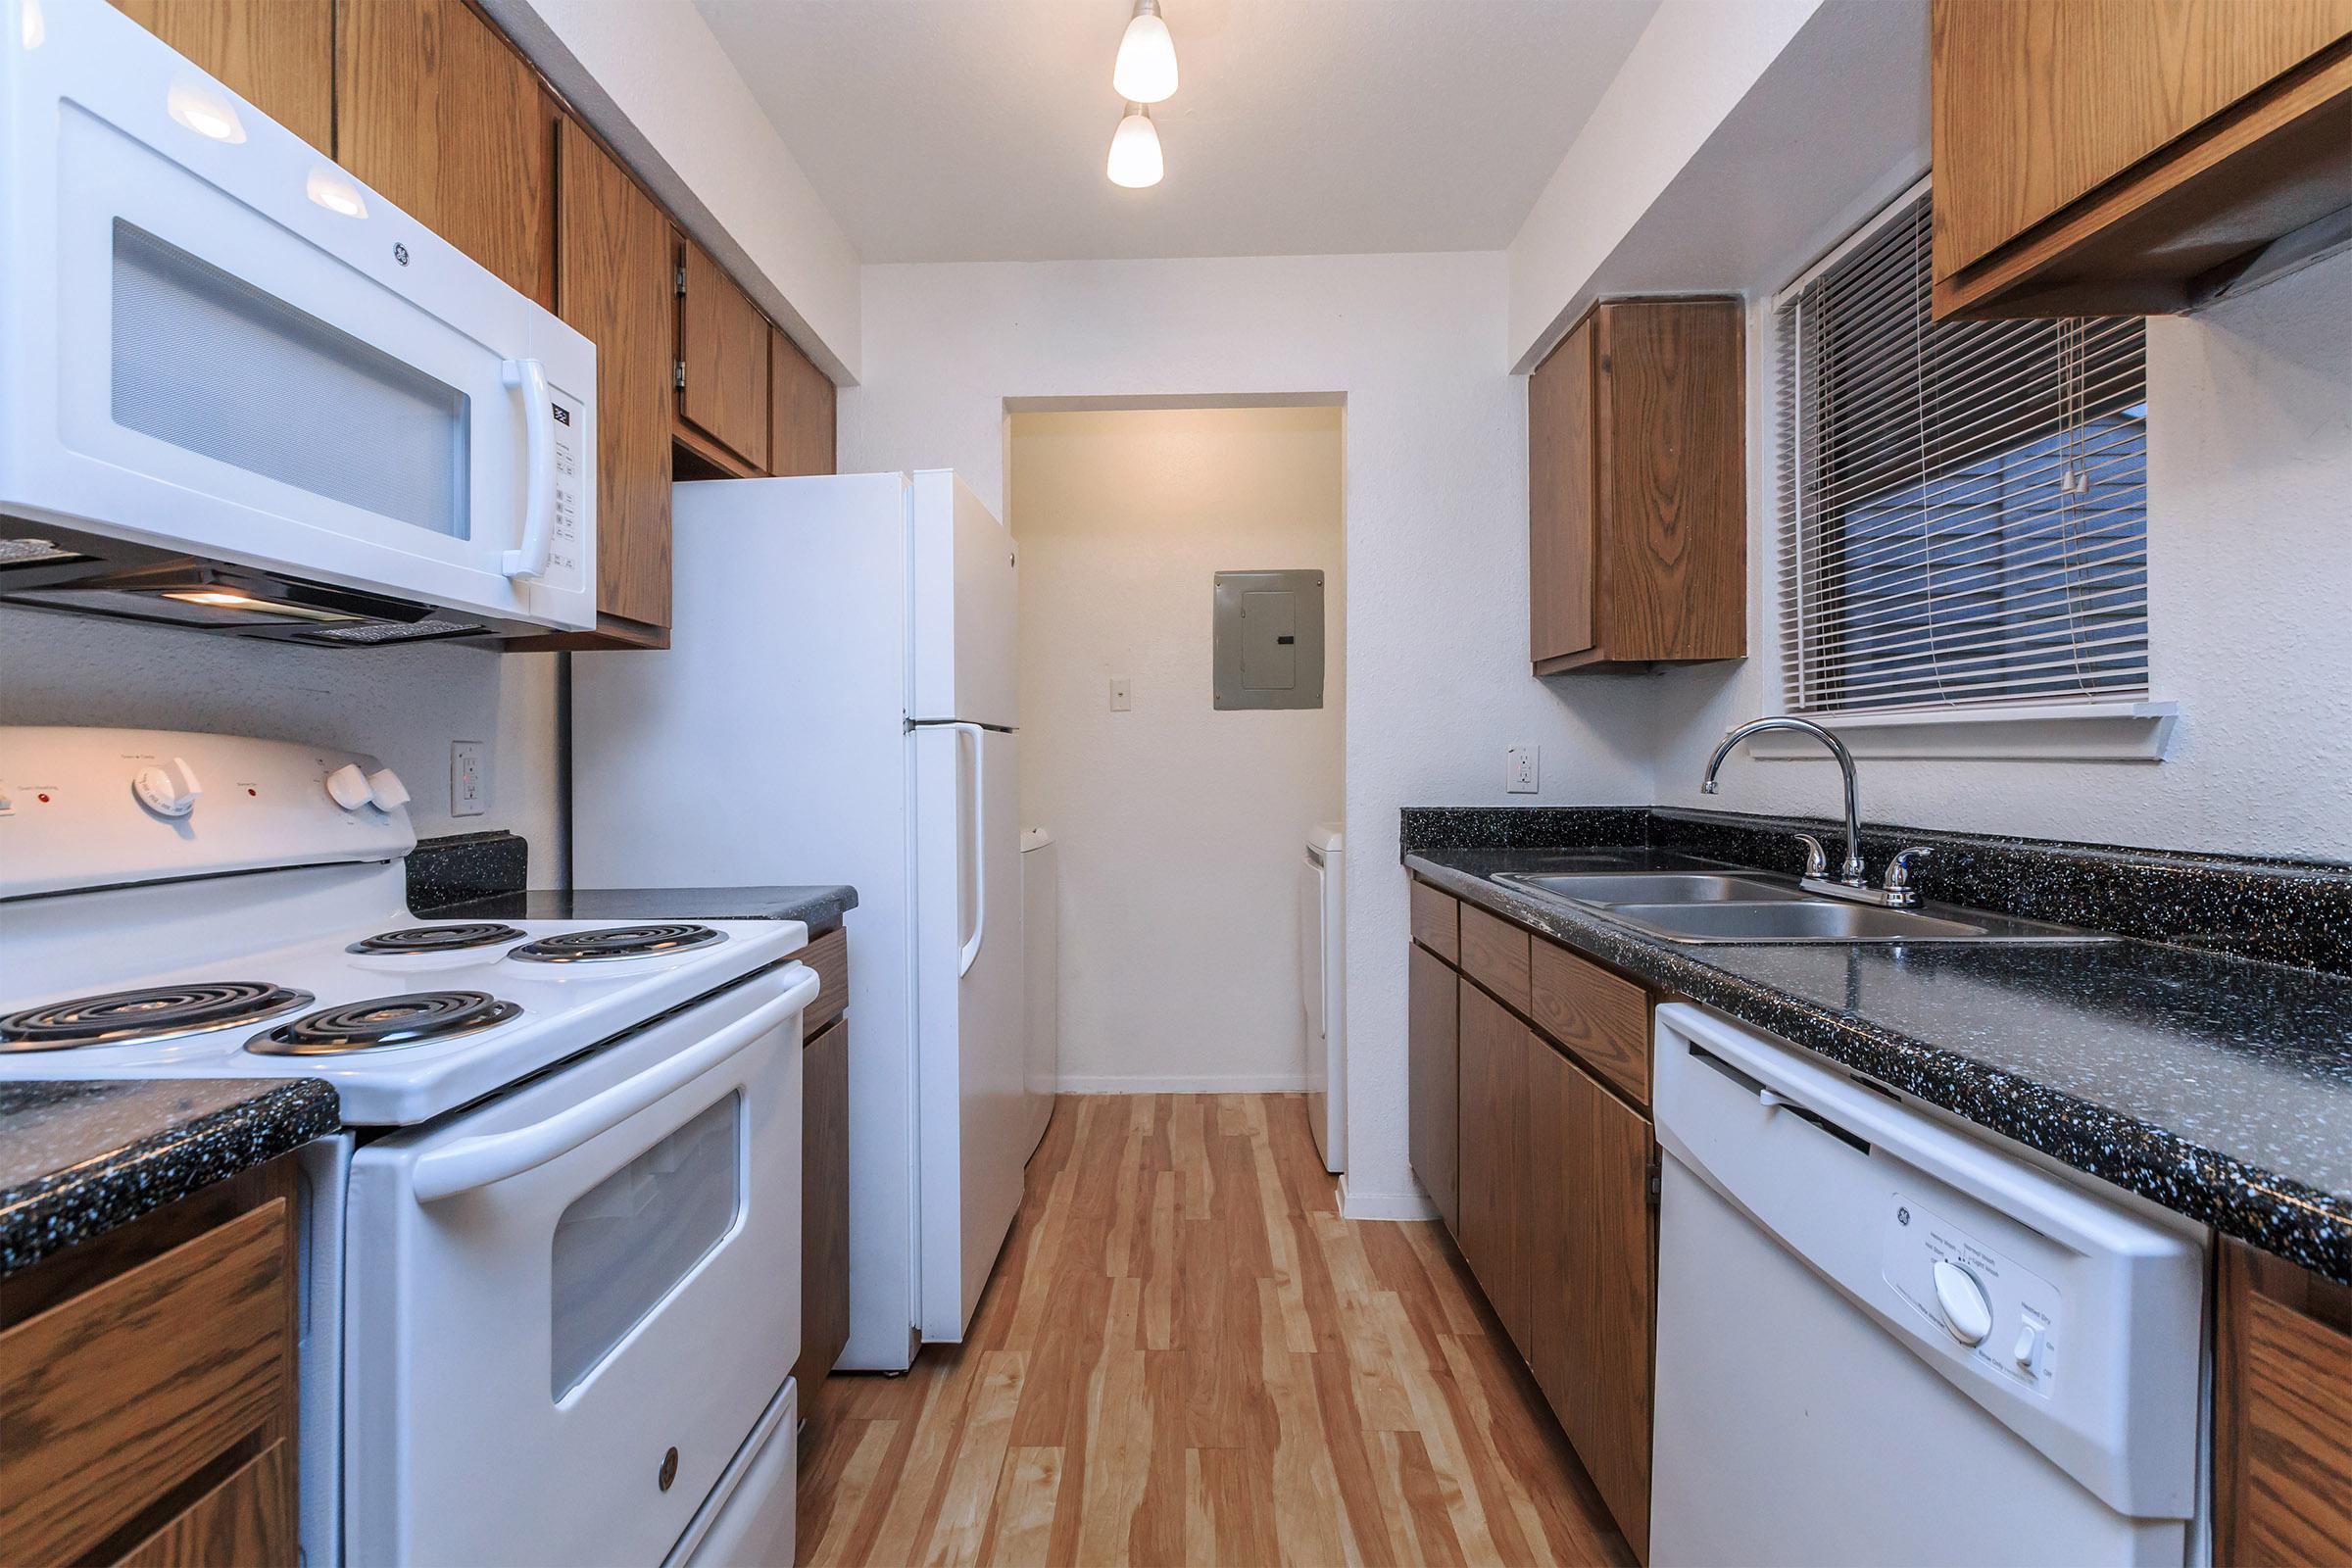
<path fill-rule="evenodd" d="M 1762 284 L 1759 284 L 1762 287 Z M 1773 708 L 1776 468 L 1769 310 L 1750 317 L 1750 649 L 1658 686 L 1658 799 L 1835 813 L 1828 762 L 1724 766 Z M 2154 849 L 2352 858 L 2352 256 L 2190 317 L 2147 322 L 2147 611 L 2164 762 L 1863 759 L 1863 811 L 1924 827 Z"/>

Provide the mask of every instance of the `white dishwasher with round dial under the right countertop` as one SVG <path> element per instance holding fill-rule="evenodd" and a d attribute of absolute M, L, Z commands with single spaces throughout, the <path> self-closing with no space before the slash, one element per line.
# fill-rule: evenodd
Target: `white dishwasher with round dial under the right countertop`
<path fill-rule="evenodd" d="M 1651 1566 L 2164 1563 L 2201 1227 L 1658 1009 Z"/>

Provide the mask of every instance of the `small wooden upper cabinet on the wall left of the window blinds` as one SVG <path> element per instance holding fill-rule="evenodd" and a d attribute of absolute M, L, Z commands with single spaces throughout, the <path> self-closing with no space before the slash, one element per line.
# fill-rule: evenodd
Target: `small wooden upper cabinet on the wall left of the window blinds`
<path fill-rule="evenodd" d="M 1595 306 L 1526 386 L 1536 675 L 1748 654 L 1736 299 Z"/>

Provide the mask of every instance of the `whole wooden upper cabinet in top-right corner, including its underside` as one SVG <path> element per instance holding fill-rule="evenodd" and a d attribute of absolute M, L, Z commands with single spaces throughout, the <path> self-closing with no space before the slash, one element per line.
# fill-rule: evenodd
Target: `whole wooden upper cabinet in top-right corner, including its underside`
<path fill-rule="evenodd" d="M 2352 0 L 1933 0 L 1931 59 L 1938 317 L 2183 310 L 2352 205 Z"/>

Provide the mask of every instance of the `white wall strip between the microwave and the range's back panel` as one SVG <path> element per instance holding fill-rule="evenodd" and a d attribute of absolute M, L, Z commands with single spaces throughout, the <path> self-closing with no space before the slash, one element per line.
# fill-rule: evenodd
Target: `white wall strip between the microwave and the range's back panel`
<path fill-rule="evenodd" d="M 553 886 L 555 654 L 301 649 L 0 607 L 0 724 L 195 729 L 381 757 L 419 837 L 508 827 Z M 449 816 L 449 743 L 489 750 L 489 809 Z"/>

